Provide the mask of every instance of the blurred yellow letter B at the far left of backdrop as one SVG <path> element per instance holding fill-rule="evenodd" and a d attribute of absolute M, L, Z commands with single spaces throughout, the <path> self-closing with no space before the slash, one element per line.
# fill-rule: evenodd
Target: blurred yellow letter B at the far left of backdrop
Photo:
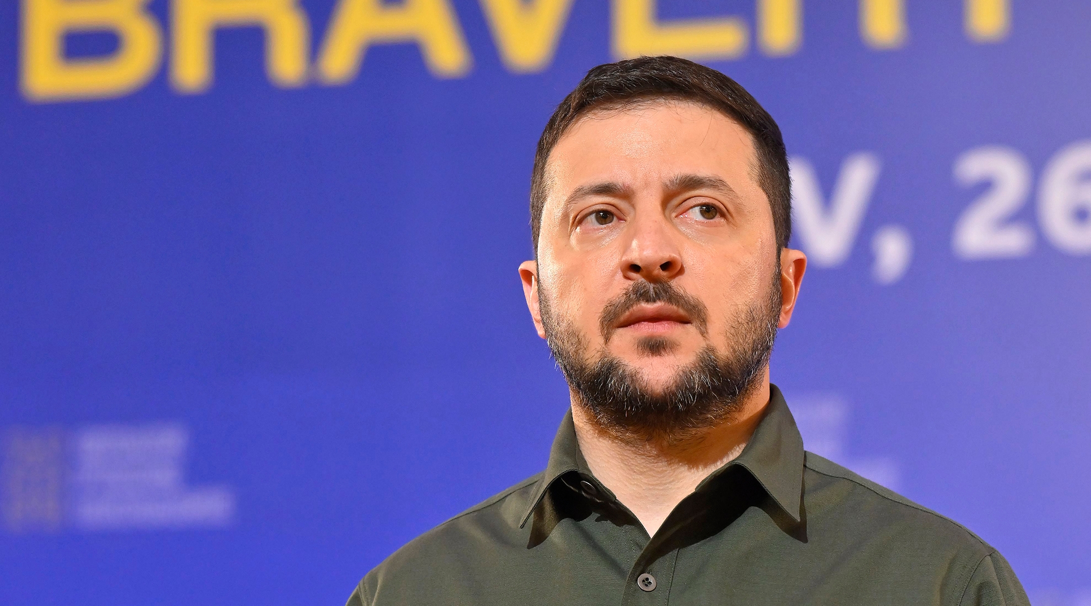
<path fill-rule="evenodd" d="M 24 0 L 21 86 L 35 101 L 120 97 L 147 83 L 159 66 L 159 24 L 148 0 Z M 68 59 L 64 34 L 112 32 L 118 50 Z"/>

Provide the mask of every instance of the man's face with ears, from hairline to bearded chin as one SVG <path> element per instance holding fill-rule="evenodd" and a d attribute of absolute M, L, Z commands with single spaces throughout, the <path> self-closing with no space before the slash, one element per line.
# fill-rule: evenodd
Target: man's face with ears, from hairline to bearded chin
<path fill-rule="evenodd" d="M 753 347 L 733 341 L 755 325 L 787 324 L 794 290 L 786 308 L 756 167 L 751 135 L 700 105 L 576 122 L 546 167 L 537 265 L 520 267 L 539 335 L 585 365 L 620 362 L 655 395 L 709 353 Z"/>

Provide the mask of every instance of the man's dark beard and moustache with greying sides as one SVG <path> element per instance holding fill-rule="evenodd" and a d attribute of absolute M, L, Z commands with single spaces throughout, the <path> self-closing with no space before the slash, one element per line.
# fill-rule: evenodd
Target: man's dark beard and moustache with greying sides
<path fill-rule="evenodd" d="M 778 259 L 779 260 L 779 259 Z M 603 347 L 588 361 L 587 339 L 567 318 L 558 317 L 544 284 L 539 282 L 539 306 L 546 340 L 564 373 L 573 403 L 591 413 L 600 427 L 625 441 L 685 441 L 734 416 L 758 387 L 769 363 L 780 318 L 780 268 L 777 264 L 766 296 L 742 308 L 727 329 L 728 351 L 707 343 L 696 359 L 679 368 L 660 390 L 652 390 L 642 373 L 606 343 L 618 319 L 640 303 L 679 307 L 707 340 L 707 308 L 671 282 L 634 282 L 611 301 L 600 318 Z M 644 355 L 662 355 L 676 347 L 671 339 L 645 337 L 636 343 Z"/>

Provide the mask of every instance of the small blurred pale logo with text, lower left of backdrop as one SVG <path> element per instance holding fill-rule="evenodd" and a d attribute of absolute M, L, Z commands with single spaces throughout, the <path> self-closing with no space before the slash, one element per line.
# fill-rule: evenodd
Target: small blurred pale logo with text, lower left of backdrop
<path fill-rule="evenodd" d="M 0 496 L 9 530 L 216 528 L 235 517 L 230 487 L 187 483 L 183 424 L 17 427 L 4 437 Z"/>

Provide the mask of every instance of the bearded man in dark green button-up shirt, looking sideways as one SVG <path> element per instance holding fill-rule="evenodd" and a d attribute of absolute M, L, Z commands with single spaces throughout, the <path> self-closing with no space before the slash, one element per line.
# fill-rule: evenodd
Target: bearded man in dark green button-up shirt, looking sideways
<path fill-rule="evenodd" d="M 995 549 L 804 452 L 769 353 L 806 269 L 772 118 L 672 57 L 588 72 L 531 177 L 527 306 L 571 387 L 546 471 L 349 604 L 1028 604 Z"/>

